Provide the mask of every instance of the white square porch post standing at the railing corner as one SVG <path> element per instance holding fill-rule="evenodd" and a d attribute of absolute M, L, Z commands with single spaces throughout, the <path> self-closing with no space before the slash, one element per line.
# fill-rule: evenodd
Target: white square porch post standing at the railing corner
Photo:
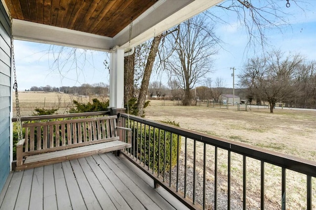
<path fill-rule="evenodd" d="M 111 53 L 110 107 L 124 107 L 124 49 L 115 48 Z"/>

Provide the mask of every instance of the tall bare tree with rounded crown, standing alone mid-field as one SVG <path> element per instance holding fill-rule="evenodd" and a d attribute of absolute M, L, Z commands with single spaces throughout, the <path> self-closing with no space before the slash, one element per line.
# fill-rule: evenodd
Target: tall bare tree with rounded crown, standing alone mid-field
<path fill-rule="evenodd" d="M 170 78 L 184 90 L 183 105 L 190 105 L 190 90 L 211 72 L 211 56 L 217 53 L 218 39 L 205 16 L 196 16 L 178 26 L 179 32 L 169 37 L 171 52 L 166 68 Z M 173 44 L 175 43 L 175 44 Z"/>

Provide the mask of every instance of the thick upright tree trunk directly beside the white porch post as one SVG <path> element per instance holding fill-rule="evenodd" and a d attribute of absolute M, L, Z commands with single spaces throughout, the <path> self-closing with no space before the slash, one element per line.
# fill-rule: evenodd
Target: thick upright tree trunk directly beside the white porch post
<path fill-rule="evenodd" d="M 134 60 L 135 53 L 124 58 L 124 105 L 134 95 Z"/>

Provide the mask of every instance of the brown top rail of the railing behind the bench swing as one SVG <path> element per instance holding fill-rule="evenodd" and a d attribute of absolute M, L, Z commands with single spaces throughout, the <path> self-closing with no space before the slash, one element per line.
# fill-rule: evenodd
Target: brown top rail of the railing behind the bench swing
<path fill-rule="evenodd" d="M 59 115 L 27 116 L 27 117 L 21 117 L 21 121 L 23 122 L 23 121 L 31 121 L 31 120 L 51 120 L 51 119 L 76 118 L 76 117 L 99 116 L 99 115 L 110 115 L 110 112 L 101 111 L 101 112 L 59 114 Z M 17 118 L 12 118 L 12 122 L 16 122 L 16 120 Z"/>

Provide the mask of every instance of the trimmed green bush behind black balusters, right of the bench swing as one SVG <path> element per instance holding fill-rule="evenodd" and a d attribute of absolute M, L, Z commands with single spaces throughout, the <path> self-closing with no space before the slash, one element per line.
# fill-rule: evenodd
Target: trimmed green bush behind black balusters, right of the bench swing
<path fill-rule="evenodd" d="M 179 123 L 176 123 L 174 121 L 161 121 L 163 123 L 179 126 Z M 153 159 L 153 152 L 154 152 L 154 128 L 150 128 L 149 126 L 146 126 L 146 129 L 144 129 L 144 126 L 142 128 L 138 127 L 138 129 L 135 127 L 132 127 L 132 136 L 134 136 L 135 131 L 135 139 L 137 139 L 137 143 L 135 144 L 135 156 L 138 157 L 138 159 L 141 158 L 141 162 L 144 162 L 144 153 L 145 149 L 144 146 L 146 144 L 146 155 L 145 155 L 145 165 L 148 166 L 148 145 L 150 144 L 150 161 L 149 161 L 149 167 L 155 168 L 155 172 L 158 172 L 158 158 L 159 158 L 159 148 L 160 148 L 160 159 L 159 159 L 159 171 L 160 173 L 163 171 L 163 162 L 164 162 L 164 131 L 155 128 L 155 165 L 154 159 Z M 146 140 L 145 140 L 146 135 Z M 160 145 L 158 146 L 158 139 L 160 136 Z M 142 138 L 141 138 L 142 137 Z M 165 171 L 168 171 L 170 169 L 170 132 L 166 132 L 165 134 L 165 148 L 166 148 L 166 156 L 165 156 Z M 179 154 L 180 154 L 180 145 L 181 145 L 181 136 L 179 136 Z M 134 147 L 134 140 L 132 140 L 132 146 Z M 141 148 L 140 148 L 141 147 Z M 174 167 L 177 163 L 177 147 L 178 147 L 178 135 L 172 134 L 172 145 L 171 145 L 171 167 Z M 134 151 L 131 151 L 132 154 L 134 154 Z"/>

